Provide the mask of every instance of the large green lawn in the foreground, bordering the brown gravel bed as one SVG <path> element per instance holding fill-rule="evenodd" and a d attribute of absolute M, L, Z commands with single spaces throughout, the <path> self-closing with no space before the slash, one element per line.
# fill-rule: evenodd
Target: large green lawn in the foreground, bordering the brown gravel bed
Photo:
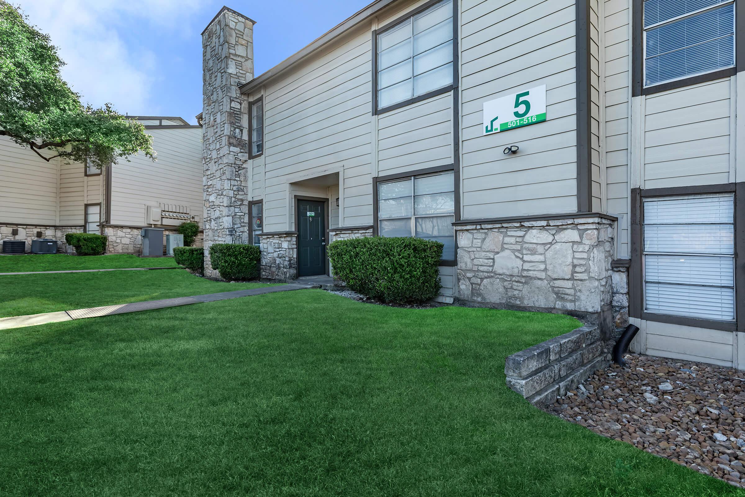
<path fill-rule="evenodd" d="M 742 495 L 507 389 L 575 326 L 302 290 L 0 332 L 0 495 Z"/>

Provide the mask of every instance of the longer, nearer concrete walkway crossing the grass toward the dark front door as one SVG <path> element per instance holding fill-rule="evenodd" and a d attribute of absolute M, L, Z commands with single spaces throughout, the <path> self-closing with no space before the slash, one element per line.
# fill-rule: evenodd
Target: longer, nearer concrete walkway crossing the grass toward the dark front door
<path fill-rule="evenodd" d="M 128 312 L 151 311 L 167 307 L 189 306 L 217 300 L 237 299 L 240 297 L 251 297 L 253 295 L 273 294 L 278 291 L 303 290 L 305 288 L 320 288 L 320 285 L 305 285 L 303 283 L 291 283 L 289 285 L 271 286 L 265 288 L 250 288 L 248 290 L 225 291 L 219 294 L 193 295 L 191 297 L 176 297 L 163 300 L 146 300 L 145 302 L 134 302 L 130 304 L 117 304 L 115 306 L 92 307 L 75 309 L 73 311 L 45 312 L 42 314 L 26 314 L 25 316 L 13 316 L 0 318 L 0 329 L 22 328 L 24 326 L 37 326 L 38 324 L 60 323 L 85 319 L 86 317 L 111 316 L 113 314 L 126 314 Z"/>

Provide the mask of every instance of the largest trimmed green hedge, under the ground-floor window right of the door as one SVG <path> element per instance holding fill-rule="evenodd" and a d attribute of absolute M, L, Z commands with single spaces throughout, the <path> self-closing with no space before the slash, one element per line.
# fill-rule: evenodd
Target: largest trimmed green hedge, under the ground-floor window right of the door
<path fill-rule="evenodd" d="M 352 238 L 329 245 L 334 274 L 386 303 L 420 303 L 440 292 L 443 244 L 421 238 Z"/>

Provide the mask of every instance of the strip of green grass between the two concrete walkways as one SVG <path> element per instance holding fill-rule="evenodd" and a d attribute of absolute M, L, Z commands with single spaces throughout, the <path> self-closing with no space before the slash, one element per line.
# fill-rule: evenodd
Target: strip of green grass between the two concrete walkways
<path fill-rule="evenodd" d="M 182 269 L 0 276 L 0 317 L 265 286 L 270 285 L 214 282 Z"/>

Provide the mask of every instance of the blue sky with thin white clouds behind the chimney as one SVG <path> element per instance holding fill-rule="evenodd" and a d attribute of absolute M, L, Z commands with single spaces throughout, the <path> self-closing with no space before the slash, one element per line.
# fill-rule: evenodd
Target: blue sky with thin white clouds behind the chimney
<path fill-rule="evenodd" d="M 256 75 L 372 0 L 16 0 L 66 61 L 63 77 L 83 102 L 130 115 L 202 110 L 200 33 L 223 4 L 249 16 Z"/>

